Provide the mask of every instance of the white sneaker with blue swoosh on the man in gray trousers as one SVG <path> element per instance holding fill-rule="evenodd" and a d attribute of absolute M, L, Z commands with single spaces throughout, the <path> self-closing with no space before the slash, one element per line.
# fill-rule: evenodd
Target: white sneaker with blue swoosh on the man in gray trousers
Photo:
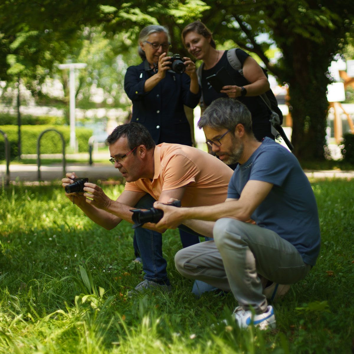
<path fill-rule="evenodd" d="M 260 315 L 255 315 L 251 310 L 245 310 L 242 306 L 239 306 L 235 308 L 233 316 L 240 328 L 247 328 L 250 325 L 259 327 L 261 330 L 276 327 L 272 306 L 268 306 L 267 311 Z"/>

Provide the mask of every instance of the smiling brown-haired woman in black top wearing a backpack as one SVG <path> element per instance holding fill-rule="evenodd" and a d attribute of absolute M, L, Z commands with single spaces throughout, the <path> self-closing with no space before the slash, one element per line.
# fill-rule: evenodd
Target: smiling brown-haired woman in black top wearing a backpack
<path fill-rule="evenodd" d="M 256 138 L 259 141 L 265 136 L 274 139 L 269 122 L 269 108 L 259 97 L 269 90 L 269 82 L 255 59 L 236 48 L 235 55 L 242 65 L 243 75 L 241 75 L 230 64 L 228 51 L 216 49 L 211 31 L 200 21 L 190 23 L 183 29 L 182 41 L 188 52 L 203 62 L 198 75 L 202 87 L 201 105 L 207 107 L 219 97 L 237 98 L 251 112 L 252 130 Z M 216 74 L 222 67 L 227 69 L 236 85 L 224 86 L 220 92 L 217 92 L 206 78 Z"/>

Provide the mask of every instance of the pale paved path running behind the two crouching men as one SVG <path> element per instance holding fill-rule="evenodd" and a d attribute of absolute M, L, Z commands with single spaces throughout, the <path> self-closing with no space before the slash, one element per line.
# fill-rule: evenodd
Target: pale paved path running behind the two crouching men
<path fill-rule="evenodd" d="M 42 165 L 40 167 L 41 180 L 53 181 L 63 177 L 63 166 L 61 164 Z M 66 165 L 67 172 L 76 172 L 79 177 L 87 177 L 89 179 L 120 179 L 121 173 L 111 164 L 94 163 L 92 166 L 85 163 L 68 163 Z M 308 178 L 354 178 L 354 171 L 304 171 Z M 0 184 L 2 178 L 6 181 L 6 165 L 0 165 Z M 10 181 L 38 181 L 38 167 L 36 164 L 15 165 L 10 164 Z"/>

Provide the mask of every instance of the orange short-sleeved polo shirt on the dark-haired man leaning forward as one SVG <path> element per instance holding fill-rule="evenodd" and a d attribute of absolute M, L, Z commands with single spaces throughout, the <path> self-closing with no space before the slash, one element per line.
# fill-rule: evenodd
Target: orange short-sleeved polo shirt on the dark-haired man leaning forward
<path fill-rule="evenodd" d="M 159 200 L 163 190 L 184 187 L 182 206 L 214 205 L 225 201 L 233 170 L 202 150 L 179 144 L 161 143 L 154 151 L 153 180 L 127 182 L 125 190 L 147 192 Z"/>

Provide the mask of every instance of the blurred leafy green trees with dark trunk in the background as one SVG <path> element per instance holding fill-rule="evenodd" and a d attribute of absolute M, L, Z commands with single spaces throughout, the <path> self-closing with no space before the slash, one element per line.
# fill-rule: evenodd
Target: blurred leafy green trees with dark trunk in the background
<path fill-rule="evenodd" d="M 59 63 L 88 65 L 79 73 L 77 107 L 124 108 L 129 105 L 122 87 L 125 69 L 140 62 L 139 30 L 166 25 L 172 51 L 187 56 L 181 30 L 200 19 L 219 46 L 254 53 L 279 84 L 289 86 L 292 143 L 301 160 L 324 159 L 327 68 L 338 53 L 353 57 L 347 44 L 353 44 L 354 2 L 347 0 L 7 0 L 0 13 L 2 92 L 20 78 L 37 104 L 63 108 L 68 106 L 68 73 L 57 69 Z M 277 60 L 270 57 L 274 48 Z M 62 83 L 61 96 L 48 89 L 54 79 Z M 92 101 L 93 91 L 100 102 Z"/>

